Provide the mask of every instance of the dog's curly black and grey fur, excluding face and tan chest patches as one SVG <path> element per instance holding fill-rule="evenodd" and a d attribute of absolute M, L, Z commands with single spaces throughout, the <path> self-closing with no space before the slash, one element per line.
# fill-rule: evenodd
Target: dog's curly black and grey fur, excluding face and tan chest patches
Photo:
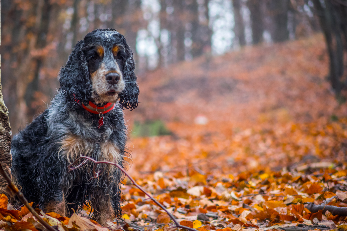
<path fill-rule="evenodd" d="M 100 129 L 99 115 L 82 107 L 82 104 L 93 101 L 85 50 L 95 44 L 106 48 L 120 44 L 128 54 L 122 68 L 125 88 L 118 94 L 119 106 L 115 105 L 112 111 L 104 114 L 104 125 Z M 61 87 L 51 106 L 12 140 L 12 173 L 28 201 L 35 202 L 43 210 L 52 202 L 65 201 L 66 215 L 71 214 L 71 209 L 78 211 L 83 205 L 91 204 L 92 215 L 101 222 L 112 218 L 113 215 L 105 215 L 110 204 L 115 216 L 121 214 L 121 172 L 108 165 L 99 165 L 96 171 L 101 171 L 100 177 L 94 179 L 91 162 L 68 172 L 67 166 L 73 160 L 68 160 L 61 148 L 69 137 L 73 137 L 82 140 L 85 149 L 90 150 L 79 154 L 95 160 L 108 160 L 101 147 L 110 142 L 119 149 L 118 163 L 123 166 L 127 129 L 122 108 L 135 109 L 139 94 L 134 69 L 132 51 L 124 36 L 115 30 L 94 30 L 76 44 L 66 66 L 60 70 Z"/>

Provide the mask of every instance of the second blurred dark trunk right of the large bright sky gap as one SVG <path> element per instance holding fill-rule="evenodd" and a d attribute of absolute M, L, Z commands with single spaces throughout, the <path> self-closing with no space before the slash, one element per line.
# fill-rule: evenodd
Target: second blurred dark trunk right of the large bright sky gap
<path fill-rule="evenodd" d="M 279 1 L 279 0 L 273 0 Z M 263 38 L 263 11 L 262 11 L 263 0 L 248 0 L 247 7 L 251 11 L 251 24 L 252 24 L 252 38 L 253 44 L 258 44 Z M 286 27 L 287 28 L 287 27 Z"/>

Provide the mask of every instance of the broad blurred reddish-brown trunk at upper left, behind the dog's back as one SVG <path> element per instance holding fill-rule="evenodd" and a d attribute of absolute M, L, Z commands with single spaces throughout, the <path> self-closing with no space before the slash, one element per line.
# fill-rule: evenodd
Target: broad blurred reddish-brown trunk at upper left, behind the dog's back
<path fill-rule="evenodd" d="M 33 1 L 31 7 L 21 8 L 20 3 L 7 0 L 7 15 L 2 17 L 3 25 L 7 34 L 4 35 L 6 51 L 6 65 L 3 68 L 3 74 L 11 76 L 6 78 L 6 95 L 9 111 L 12 111 L 11 123 L 17 130 L 21 125 L 29 122 L 28 119 L 28 101 L 26 90 L 28 84 L 34 80 L 36 62 L 33 60 L 32 51 L 35 49 L 38 39 L 38 31 L 41 22 L 42 7 L 44 0 Z M 30 22 L 20 20 L 30 18 Z M 19 46 L 20 44 L 20 46 Z M 4 46 L 4 44 L 3 44 Z"/>

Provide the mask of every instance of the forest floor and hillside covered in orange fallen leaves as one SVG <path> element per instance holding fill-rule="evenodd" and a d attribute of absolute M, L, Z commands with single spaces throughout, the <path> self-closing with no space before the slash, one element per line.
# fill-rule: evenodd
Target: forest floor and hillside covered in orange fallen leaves
<path fill-rule="evenodd" d="M 328 64 L 315 35 L 140 75 L 142 103 L 126 113 L 129 174 L 199 231 L 346 230 L 347 107 L 326 81 Z M 139 137 L 159 119 L 171 135 Z M 177 229 L 129 178 L 122 191 L 126 223 L 108 229 Z M 3 201 L 0 220 L 12 225 L 0 226 L 40 228 L 24 207 L 15 213 Z M 49 215 L 59 231 L 107 230 Z"/>

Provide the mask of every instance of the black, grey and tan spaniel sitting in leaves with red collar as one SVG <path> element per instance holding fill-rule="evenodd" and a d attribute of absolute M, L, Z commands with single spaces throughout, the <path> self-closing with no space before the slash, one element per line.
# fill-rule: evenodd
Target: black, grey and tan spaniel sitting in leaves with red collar
<path fill-rule="evenodd" d="M 68 166 L 80 155 L 124 166 L 122 109 L 138 105 L 134 69 L 132 50 L 114 29 L 96 29 L 75 45 L 50 107 L 12 139 L 12 177 L 28 201 L 62 216 L 91 205 L 100 224 L 121 215 L 117 167 L 98 164 L 94 178 L 90 160 L 70 172 Z"/>

